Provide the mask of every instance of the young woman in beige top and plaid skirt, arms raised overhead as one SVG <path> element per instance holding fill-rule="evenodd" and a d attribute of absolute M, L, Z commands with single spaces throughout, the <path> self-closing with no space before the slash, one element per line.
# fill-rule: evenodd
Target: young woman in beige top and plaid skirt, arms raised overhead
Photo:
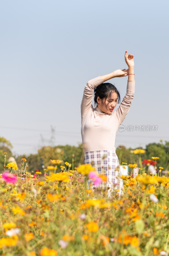
<path fill-rule="evenodd" d="M 116 132 L 119 125 L 125 119 L 134 97 L 134 56 L 127 55 L 125 61 L 128 69 L 118 69 L 104 76 L 98 76 L 85 86 L 81 102 L 81 136 L 85 154 L 85 164 L 92 164 L 98 174 L 105 172 L 107 175 L 106 187 L 108 194 L 113 189 L 119 189 L 123 193 L 123 180 L 119 160 L 114 147 Z M 128 76 L 127 93 L 119 108 L 113 111 L 120 101 L 120 95 L 116 87 L 105 81 L 114 77 Z M 94 101 L 96 108 L 92 106 Z"/>

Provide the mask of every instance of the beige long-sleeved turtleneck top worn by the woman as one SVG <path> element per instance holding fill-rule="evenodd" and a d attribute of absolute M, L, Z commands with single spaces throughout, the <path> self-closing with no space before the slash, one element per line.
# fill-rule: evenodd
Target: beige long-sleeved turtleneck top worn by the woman
<path fill-rule="evenodd" d="M 135 81 L 127 81 L 127 92 L 119 108 L 112 114 L 106 114 L 99 108 L 93 108 L 94 88 L 104 83 L 101 76 L 88 81 L 81 102 L 81 136 L 84 152 L 97 150 L 115 150 L 115 137 L 119 125 L 123 122 L 134 97 Z"/>

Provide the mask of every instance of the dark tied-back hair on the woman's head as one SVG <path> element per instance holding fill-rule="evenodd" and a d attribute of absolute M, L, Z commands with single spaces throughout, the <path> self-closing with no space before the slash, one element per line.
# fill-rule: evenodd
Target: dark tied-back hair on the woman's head
<path fill-rule="evenodd" d="M 97 86 L 94 90 L 95 104 L 97 103 L 97 97 L 99 97 L 101 100 L 104 99 L 103 102 L 105 102 L 105 100 L 111 96 L 112 92 L 117 93 L 118 103 L 120 103 L 120 93 L 117 88 L 111 83 L 103 83 Z"/>

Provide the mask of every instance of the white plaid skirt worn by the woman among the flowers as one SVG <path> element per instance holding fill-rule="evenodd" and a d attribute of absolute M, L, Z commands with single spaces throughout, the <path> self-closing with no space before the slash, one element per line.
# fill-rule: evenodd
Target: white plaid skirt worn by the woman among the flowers
<path fill-rule="evenodd" d="M 107 181 L 102 182 L 99 187 L 109 188 L 108 196 L 115 189 L 119 189 L 119 194 L 124 194 L 123 192 L 123 180 L 119 177 L 121 176 L 119 159 L 114 150 L 101 150 L 101 151 L 90 151 L 85 152 L 84 163 L 91 164 L 95 167 L 95 171 L 98 174 L 105 174 L 107 176 Z M 92 184 L 92 181 L 88 180 L 88 187 L 92 186 L 95 189 L 96 186 Z"/>

